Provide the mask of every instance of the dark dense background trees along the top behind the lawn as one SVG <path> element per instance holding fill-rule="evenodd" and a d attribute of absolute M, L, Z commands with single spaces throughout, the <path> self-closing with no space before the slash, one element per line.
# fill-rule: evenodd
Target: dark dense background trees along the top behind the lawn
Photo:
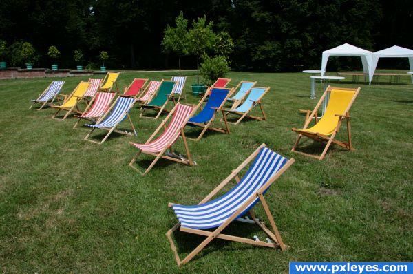
<path fill-rule="evenodd" d="M 47 49 L 56 45 L 65 67 L 76 65 L 76 49 L 96 67 L 102 50 L 109 52 L 108 67 L 178 67 L 176 56 L 162 54 L 162 36 L 181 10 L 189 22 L 207 15 L 214 32 L 231 35 L 231 67 L 237 70 L 317 68 L 322 50 L 341 43 L 368 50 L 413 48 L 409 0 L 159 0 L 156 5 L 149 0 L 3 0 L 0 40 L 12 49 L 21 41 L 34 45 L 41 56 L 36 66 L 50 65 Z M 22 65 L 18 56 L 7 61 Z M 359 65 L 358 60 L 348 64 L 353 61 Z M 182 66 L 193 68 L 195 62 L 186 56 Z M 329 62 L 329 68 L 337 63 Z"/>

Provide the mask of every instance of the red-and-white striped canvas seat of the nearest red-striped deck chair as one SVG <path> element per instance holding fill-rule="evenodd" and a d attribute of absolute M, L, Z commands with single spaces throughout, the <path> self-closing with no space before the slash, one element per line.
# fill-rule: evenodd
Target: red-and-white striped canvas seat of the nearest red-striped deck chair
<path fill-rule="evenodd" d="M 167 129 L 165 129 L 165 131 L 158 138 L 156 138 L 156 140 L 153 140 L 147 144 L 132 143 L 132 145 L 142 151 L 151 153 L 158 153 L 162 151 L 165 146 L 174 143 L 176 139 L 178 139 L 180 135 L 180 128 L 187 122 L 189 114 L 191 114 L 192 110 L 192 106 L 178 103 Z"/>

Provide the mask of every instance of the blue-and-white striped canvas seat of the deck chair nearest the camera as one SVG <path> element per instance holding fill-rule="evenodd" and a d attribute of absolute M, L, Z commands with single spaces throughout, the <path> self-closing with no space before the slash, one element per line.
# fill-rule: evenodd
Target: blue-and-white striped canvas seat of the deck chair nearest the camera
<path fill-rule="evenodd" d="M 192 229 L 218 227 L 237 211 L 249 197 L 257 193 L 258 189 L 273 177 L 286 162 L 286 158 L 264 147 L 240 182 L 224 196 L 194 206 L 175 204 L 173 211 L 183 227 Z M 255 198 L 239 217 L 254 207 L 258 200 L 259 198 Z"/>

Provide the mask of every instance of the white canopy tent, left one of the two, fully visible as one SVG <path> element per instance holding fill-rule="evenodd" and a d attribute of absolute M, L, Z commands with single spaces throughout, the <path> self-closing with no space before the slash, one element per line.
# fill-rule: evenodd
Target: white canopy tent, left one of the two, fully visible
<path fill-rule="evenodd" d="M 321 70 L 326 71 L 327 61 L 330 56 L 359 56 L 361 57 L 361 63 L 363 64 L 364 73 L 370 75 L 370 67 L 372 64 L 372 52 L 369 50 L 363 50 L 362 48 L 357 48 L 354 45 L 345 43 L 339 45 L 336 48 L 326 50 L 323 52 L 323 59 L 321 60 Z M 324 72 L 321 76 L 324 76 Z"/>

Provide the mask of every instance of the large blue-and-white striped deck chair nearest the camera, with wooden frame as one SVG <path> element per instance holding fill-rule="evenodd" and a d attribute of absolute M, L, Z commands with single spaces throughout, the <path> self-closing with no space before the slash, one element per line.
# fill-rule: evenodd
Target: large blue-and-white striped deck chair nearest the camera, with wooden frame
<path fill-rule="evenodd" d="M 240 173 L 240 171 L 242 171 L 242 169 L 244 169 L 254 158 L 255 160 L 252 165 L 240 179 L 238 173 Z M 280 248 L 282 251 L 286 250 L 288 246 L 284 244 L 281 235 L 279 234 L 273 215 L 271 215 L 271 211 L 264 198 L 264 193 L 268 191 L 273 182 L 277 180 L 290 165 L 293 165 L 293 163 L 294 158 L 288 160 L 274 151 L 271 151 L 271 149 L 268 149 L 265 144 L 262 144 L 199 204 L 186 206 L 169 203 L 168 206 L 172 207 L 179 220 L 179 222 L 166 233 L 178 266 L 189 262 L 214 238 L 233 242 L 243 242 L 255 246 Z M 233 179 L 237 182 L 235 187 L 223 196 L 211 200 L 218 191 Z M 258 202 L 261 202 L 262 207 L 264 208 L 271 229 L 267 228 L 264 222 L 255 217 L 254 207 Z M 251 216 L 251 219 L 242 218 L 247 214 Z M 268 235 L 268 242 L 261 241 L 258 238 L 253 240 L 223 234 L 222 231 L 234 220 L 257 224 Z M 191 253 L 189 253 L 183 260 L 180 260 L 178 251 L 171 237 L 173 232 L 177 229 L 182 232 L 206 237 L 206 239 L 193 249 L 193 251 L 191 251 Z"/>

